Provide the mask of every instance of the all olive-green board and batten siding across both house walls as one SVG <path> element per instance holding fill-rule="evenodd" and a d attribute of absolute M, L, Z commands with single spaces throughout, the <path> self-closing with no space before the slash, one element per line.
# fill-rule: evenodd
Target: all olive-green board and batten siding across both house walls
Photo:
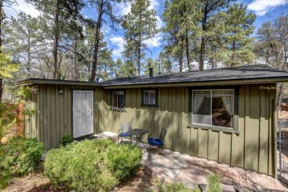
<path fill-rule="evenodd" d="M 72 134 L 72 89 L 94 90 L 94 132 L 118 132 L 121 122 L 132 122 L 149 134 L 167 129 L 165 148 L 216 160 L 274 176 L 274 110 L 276 91 L 261 84 L 239 88 L 239 134 L 188 127 L 189 88 L 158 88 L 158 107 L 141 106 L 141 88 L 125 88 L 125 112 L 110 108 L 110 91 L 96 86 L 39 84 L 28 103 L 38 114 L 25 122 L 25 134 L 59 146 L 64 134 Z M 276 84 L 269 84 L 276 86 Z M 198 86 L 199 87 L 199 86 Z M 63 93 L 58 90 L 62 88 Z M 27 117 L 26 117 L 27 118 Z M 149 134 L 143 136 L 147 142 Z"/>

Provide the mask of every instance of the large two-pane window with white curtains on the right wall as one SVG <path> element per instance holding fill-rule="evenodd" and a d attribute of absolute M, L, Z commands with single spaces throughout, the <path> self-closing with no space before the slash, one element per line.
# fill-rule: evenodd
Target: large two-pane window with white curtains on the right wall
<path fill-rule="evenodd" d="M 192 123 L 234 128 L 234 89 L 192 91 Z"/>

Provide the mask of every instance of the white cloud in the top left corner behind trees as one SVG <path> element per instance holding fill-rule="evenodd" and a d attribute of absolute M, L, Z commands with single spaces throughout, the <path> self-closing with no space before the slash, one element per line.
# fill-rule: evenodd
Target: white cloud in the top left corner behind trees
<path fill-rule="evenodd" d="M 17 0 L 17 3 L 14 3 L 12 8 L 4 7 L 4 10 L 8 16 L 17 16 L 19 12 L 25 12 L 25 14 L 33 17 L 40 15 L 40 12 L 33 5 L 26 3 L 24 0 Z"/>

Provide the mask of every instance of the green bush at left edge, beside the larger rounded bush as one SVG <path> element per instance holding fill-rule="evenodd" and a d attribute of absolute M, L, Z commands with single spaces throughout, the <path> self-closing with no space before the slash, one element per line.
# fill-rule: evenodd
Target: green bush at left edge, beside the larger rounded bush
<path fill-rule="evenodd" d="M 13 137 L 6 145 L 0 145 L 0 189 L 8 184 L 12 176 L 34 171 L 43 152 L 43 143 L 36 139 Z"/>

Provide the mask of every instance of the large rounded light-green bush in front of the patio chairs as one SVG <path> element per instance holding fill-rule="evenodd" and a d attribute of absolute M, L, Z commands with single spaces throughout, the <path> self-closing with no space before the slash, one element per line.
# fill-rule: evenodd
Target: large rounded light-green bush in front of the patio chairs
<path fill-rule="evenodd" d="M 51 149 L 44 167 L 45 175 L 53 184 L 66 184 L 75 191 L 109 191 L 132 176 L 140 160 L 138 147 L 118 146 L 109 140 L 85 140 Z"/>

